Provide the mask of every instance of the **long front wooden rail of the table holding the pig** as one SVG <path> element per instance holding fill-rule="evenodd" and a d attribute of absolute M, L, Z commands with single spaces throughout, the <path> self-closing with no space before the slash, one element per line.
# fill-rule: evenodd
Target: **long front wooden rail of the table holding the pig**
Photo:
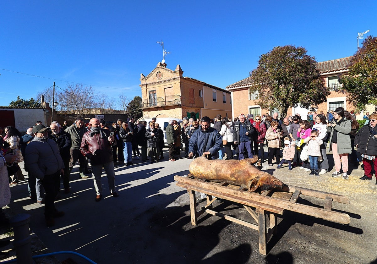
<path fill-rule="evenodd" d="M 174 177 L 176 179 L 176 177 Z M 184 180 L 186 184 L 177 183 L 177 186 L 184 187 L 186 189 L 193 189 L 204 193 L 210 193 L 212 195 L 222 198 L 220 195 L 224 196 L 223 198 L 234 201 L 236 203 L 246 204 L 256 208 L 264 208 L 270 212 L 273 212 L 268 207 L 273 206 L 283 210 L 290 210 L 297 213 L 302 213 L 305 215 L 311 215 L 314 217 L 322 218 L 328 221 L 337 222 L 341 224 L 349 224 L 351 219 L 346 213 L 340 213 L 335 211 L 327 211 L 322 208 L 316 208 L 313 206 L 308 206 L 305 204 L 292 203 L 290 201 L 284 201 L 273 197 L 265 197 L 258 193 L 251 193 L 238 190 L 229 190 L 227 187 L 218 186 L 217 194 L 214 194 L 213 183 L 203 183 L 197 180 L 178 178 L 180 182 Z M 194 183 L 192 185 L 190 183 Z M 195 187 L 194 187 L 195 186 Z M 325 198 L 325 197 L 324 197 Z M 259 203 L 258 206 L 253 205 L 253 203 Z M 264 204 L 264 205 L 261 205 Z M 276 213 L 276 211 L 274 211 Z M 279 212 L 277 212 L 279 213 Z"/>

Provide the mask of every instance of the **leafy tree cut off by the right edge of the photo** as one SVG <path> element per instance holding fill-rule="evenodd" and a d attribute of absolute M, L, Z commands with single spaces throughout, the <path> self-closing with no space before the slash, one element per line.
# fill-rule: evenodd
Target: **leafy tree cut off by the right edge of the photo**
<path fill-rule="evenodd" d="M 340 76 L 347 100 L 357 108 L 377 104 L 377 37 L 368 36 L 351 59 L 348 72 Z"/>

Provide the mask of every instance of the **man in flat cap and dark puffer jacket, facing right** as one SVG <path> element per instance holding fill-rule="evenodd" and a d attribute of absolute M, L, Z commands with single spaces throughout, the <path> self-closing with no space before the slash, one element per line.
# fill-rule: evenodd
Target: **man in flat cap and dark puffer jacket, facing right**
<path fill-rule="evenodd" d="M 60 186 L 60 175 L 64 174 L 64 164 L 54 140 L 48 138 L 48 127 L 36 125 L 32 133 L 34 139 L 25 149 L 25 166 L 35 178 L 39 179 L 46 191 L 44 216 L 48 227 L 54 226 L 55 217 L 64 215 L 54 206 L 55 196 Z"/>

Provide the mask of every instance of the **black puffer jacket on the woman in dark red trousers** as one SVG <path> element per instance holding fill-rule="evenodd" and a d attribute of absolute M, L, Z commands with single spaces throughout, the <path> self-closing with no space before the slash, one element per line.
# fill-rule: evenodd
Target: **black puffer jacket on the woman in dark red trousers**
<path fill-rule="evenodd" d="M 377 156 L 377 138 L 373 139 L 373 134 L 369 132 L 370 130 L 374 130 L 377 133 L 377 126 L 371 127 L 370 123 L 364 125 L 356 133 L 354 143 L 357 147 L 357 152 L 368 156 Z"/>

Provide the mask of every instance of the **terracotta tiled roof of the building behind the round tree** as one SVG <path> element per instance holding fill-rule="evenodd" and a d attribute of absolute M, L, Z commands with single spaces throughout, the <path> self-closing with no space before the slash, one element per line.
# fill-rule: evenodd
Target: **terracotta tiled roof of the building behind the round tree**
<path fill-rule="evenodd" d="M 351 63 L 351 58 L 352 56 L 336 60 L 321 61 L 317 63 L 317 69 L 320 74 L 346 70 Z M 251 86 L 251 84 L 253 84 L 251 82 L 251 77 L 247 77 L 244 80 L 228 85 L 225 89 Z"/>

